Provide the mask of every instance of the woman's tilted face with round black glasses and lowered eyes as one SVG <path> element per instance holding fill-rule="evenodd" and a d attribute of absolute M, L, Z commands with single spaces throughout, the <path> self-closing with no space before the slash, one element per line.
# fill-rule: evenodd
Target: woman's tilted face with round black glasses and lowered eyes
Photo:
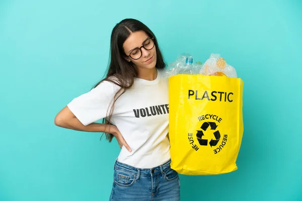
<path fill-rule="evenodd" d="M 130 55 L 130 57 L 125 57 L 125 59 L 133 62 L 138 69 L 152 69 L 155 67 L 157 59 L 156 47 L 154 41 L 144 31 L 131 33 L 125 40 L 123 48 L 125 54 L 127 56 Z"/>

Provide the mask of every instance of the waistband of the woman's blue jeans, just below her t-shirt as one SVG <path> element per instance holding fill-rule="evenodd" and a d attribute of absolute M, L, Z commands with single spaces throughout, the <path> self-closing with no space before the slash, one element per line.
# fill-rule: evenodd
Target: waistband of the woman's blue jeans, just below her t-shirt
<path fill-rule="evenodd" d="M 115 161 L 114 169 L 127 171 L 132 174 L 139 174 L 140 176 L 150 176 L 155 174 L 160 174 L 165 172 L 165 170 L 171 168 L 171 159 L 166 163 L 159 165 L 153 168 L 136 168 L 124 163 L 119 162 L 118 160 Z"/>

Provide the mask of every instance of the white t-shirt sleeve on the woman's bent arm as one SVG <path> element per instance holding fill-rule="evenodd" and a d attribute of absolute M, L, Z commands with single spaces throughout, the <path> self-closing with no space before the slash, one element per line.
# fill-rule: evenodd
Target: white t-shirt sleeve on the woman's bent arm
<path fill-rule="evenodd" d="M 117 91 L 115 84 L 103 81 L 89 92 L 73 98 L 67 107 L 83 125 L 87 126 L 109 115 L 109 107 Z"/>

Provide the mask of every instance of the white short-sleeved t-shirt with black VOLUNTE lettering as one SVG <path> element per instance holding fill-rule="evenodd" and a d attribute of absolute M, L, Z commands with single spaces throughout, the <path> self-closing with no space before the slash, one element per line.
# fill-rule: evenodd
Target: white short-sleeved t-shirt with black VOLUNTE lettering
<path fill-rule="evenodd" d="M 170 159 L 168 78 L 158 69 L 155 80 L 135 78 L 133 86 L 121 95 L 111 118 L 125 141 L 118 161 L 137 168 L 152 168 Z M 107 109 L 119 86 L 101 82 L 91 91 L 74 98 L 67 106 L 82 124 L 106 118 Z"/>

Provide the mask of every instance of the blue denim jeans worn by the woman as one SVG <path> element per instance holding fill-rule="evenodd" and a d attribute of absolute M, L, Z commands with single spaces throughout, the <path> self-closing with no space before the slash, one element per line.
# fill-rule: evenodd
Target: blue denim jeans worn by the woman
<path fill-rule="evenodd" d="M 171 160 L 152 169 L 139 169 L 118 161 L 109 200 L 179 201 L 180 180 Z"/>

